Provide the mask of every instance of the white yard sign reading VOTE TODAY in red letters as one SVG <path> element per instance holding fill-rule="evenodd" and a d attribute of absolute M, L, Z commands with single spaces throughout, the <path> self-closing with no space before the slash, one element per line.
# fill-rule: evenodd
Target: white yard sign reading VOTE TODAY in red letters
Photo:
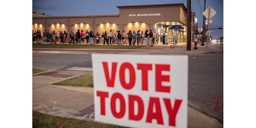
<path fill-rule="evenodd" d="M 187 127 L 188 56 L 92 54 L 95 121 Z"/>

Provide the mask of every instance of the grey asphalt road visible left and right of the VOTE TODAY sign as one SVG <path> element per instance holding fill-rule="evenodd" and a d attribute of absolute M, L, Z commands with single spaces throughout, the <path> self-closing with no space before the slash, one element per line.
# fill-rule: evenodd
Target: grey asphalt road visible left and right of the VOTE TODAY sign
<path fill-rule="evenodd" d="M 33 68 L 92 68 L 91 60 L 91 54 L 33 53 Z M 223 53 L 189 55 L 188 74 L 188 106 L 223 123 Z"/>

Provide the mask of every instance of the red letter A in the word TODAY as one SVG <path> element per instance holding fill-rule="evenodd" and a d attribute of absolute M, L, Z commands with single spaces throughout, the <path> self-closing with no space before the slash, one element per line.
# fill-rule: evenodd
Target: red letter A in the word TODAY
<path fill-rule="evenodd" d="M 156 106 L 155 113 L 153 112 L 154 104 Z M 148 114 L 147 114 L 146 122 L 152 123 L 152 119 L 156 119 L 157 124 L 164 124 L 159 98 L 153 98 L 153 97 L 149 98 Z"/>

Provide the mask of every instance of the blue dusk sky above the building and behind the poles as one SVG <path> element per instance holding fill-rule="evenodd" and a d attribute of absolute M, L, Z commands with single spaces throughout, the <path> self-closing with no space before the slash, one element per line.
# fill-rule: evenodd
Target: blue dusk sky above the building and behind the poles
<path fill-rule="evenodd" d="M 50 16 L 119 14 L 116 6 L 174 3 L 183 3 L 187 7 L 187 0 L 33 0 L 32 11 L 45 13 Z M 191 3 L 192 11 L 196 13 L 196 18 L 198 18 L 198 28 L 202 27 L 203 14 L 201 9 L 204 12 L 204 0 L 191 0 Z M 223 28 L 223 0 L 206 0 L 205 9 L 209 6 L 217 12 L 211 18 L 212 24 L 210 24 L 210 28 Z M 214 38 L 219 38 L 223 36 L 223 29 L 212 30 L 211 34 Z"/>

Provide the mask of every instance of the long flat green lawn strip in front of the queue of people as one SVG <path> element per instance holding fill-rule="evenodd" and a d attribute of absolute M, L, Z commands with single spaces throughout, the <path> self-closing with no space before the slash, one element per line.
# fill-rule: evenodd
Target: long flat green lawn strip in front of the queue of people
<path fill-rule="evenodd" d="M 80 48 L 80 49 L 136 49 L 144 46 L 132 46 L 132 45 L 88 45 L 88 44 L 32 44 L 33 48 Z"/>

